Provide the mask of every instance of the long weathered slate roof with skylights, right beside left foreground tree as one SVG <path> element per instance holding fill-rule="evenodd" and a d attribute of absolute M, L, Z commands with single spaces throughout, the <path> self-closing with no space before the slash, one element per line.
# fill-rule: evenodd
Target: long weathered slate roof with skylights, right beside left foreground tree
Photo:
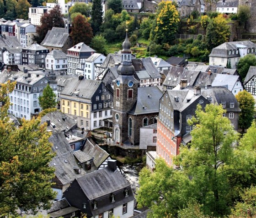
<path fill-rule="evenodd" d="M 74 152 L 71 149 L 69 142 L 63 132 L 54 133 L 50 138 L 49 142 L 53 143 L 52 151 L 56 152 L 56 156 L 50 162 L 50 166 L 55 168 L 55 176 L 63 184 L 69 184 L 74 181 L 75 178 L 82 177 L 85 175 L 83 168 L 78 165 Z M 56 149 L 56 147 L 58 149 Z M 81 172 L 77 174 L 74 167 L 79 167 Z"/>

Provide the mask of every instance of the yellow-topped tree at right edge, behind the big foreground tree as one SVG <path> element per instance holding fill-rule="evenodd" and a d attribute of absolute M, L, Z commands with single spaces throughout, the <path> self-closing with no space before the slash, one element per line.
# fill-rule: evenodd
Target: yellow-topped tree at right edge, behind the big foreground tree
<path fill-rule="evenodd" d="M 245 128 L 251 126 L 251 122 L 255 117 L 255 100 L 254 97 L 246 90 L 238 92 L 235 96 L 236 100 L 239 102 L 239 108 L 241 112 L 239 113 L 239 127 L 245 132 Z"/>

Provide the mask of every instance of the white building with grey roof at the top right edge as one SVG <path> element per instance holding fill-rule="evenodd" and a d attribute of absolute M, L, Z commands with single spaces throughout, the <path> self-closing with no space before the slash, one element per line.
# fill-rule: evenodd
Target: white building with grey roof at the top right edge
<path fill-rule="evenodd" d="M 216 3 L 216 11 L 222 14 L 237 14 L 239 0 L 220 0 Z"/>

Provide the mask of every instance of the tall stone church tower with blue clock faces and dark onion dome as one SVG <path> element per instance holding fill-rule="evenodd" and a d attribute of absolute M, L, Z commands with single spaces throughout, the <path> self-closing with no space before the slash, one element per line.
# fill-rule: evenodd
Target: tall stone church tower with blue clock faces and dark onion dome
<path fill-rule="evenodd" d="M 137 101 L 139 81 L 135 79 L 132 65 L 131 43 L 128 30 L 121 51 L 121 64 L 117 67 L 113 98 L 113 139 L 115 142 L 132 144 L 134 142 L 134 120 L 128 112 Z"/>

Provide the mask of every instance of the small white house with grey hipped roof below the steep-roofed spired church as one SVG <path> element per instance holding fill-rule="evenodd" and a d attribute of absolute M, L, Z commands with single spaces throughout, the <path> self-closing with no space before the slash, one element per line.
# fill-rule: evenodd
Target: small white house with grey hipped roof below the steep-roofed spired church
<path fill-rule="evenodd" d="M 66 54 L 61 51 L 54 49 L 45 57 L 45 69 L 52 69 L 53 71 L 67 70 L 67 57 Z"/>

